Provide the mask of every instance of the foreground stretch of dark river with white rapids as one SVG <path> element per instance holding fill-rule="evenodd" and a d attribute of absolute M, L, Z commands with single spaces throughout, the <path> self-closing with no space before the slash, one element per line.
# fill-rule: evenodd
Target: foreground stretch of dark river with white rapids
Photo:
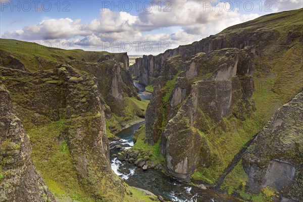
<path fill-rule="evenodd" d="M 113 154 L 118 154 L 133 145 L 133 134 L 138 127 L 143 124 L 133 125 L 117 134 L 120 140 L 110 143 L 111 164 L 114 172 L 131 186 L 139 187 L 156 195 L 163 196 L 171 201 L 238 201 L 232 197 L 217 193 L 211 190 L 203 190 L 196 186 L 177 181 L 166 176 L 162 172 L 154 169 L 143 171 L 129 162 L 121 162 L 113 158 Z M 122 148 L 116 148 L 117 144 L 122 144 Z"/>

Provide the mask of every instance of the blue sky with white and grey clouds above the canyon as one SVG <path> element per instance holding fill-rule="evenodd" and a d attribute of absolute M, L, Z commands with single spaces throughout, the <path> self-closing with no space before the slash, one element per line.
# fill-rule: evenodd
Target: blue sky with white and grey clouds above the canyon
<path fill-rule="evenodd" d="M 63 49 L 158 55 L 262 15 L 300 9 L 275 1 L 0 0 L 0 37 Z"/>

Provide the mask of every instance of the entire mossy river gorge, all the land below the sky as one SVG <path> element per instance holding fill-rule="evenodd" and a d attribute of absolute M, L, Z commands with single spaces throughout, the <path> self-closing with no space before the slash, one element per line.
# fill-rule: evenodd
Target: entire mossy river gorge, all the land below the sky
<path fill-rule="evenodd" d="M 0 202 L 303 201 L 302 18 L 131 66 L 1 38 Z"/>

